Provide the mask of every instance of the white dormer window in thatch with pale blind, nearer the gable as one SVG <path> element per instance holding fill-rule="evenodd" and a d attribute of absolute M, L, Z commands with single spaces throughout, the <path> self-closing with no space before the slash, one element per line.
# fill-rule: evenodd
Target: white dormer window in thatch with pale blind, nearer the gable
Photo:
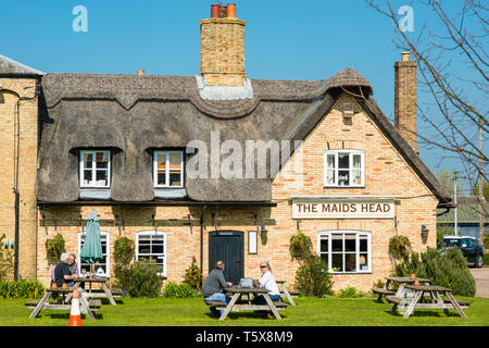
<path fill-rule="evenodd" d="M 154 151 L 154 187 L 184 187 L 184 152 Z"/>

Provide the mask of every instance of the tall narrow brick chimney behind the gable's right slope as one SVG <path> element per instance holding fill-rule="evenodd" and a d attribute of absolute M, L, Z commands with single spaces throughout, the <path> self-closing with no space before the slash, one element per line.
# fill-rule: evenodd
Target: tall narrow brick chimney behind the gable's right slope
<path fill-rule="evenodd" d="M 410 52 L 402 52 L 394 63 L 394 124 L 402 137 L 419 154 L 416 140 L 416 62 L 410 61 Z"/>

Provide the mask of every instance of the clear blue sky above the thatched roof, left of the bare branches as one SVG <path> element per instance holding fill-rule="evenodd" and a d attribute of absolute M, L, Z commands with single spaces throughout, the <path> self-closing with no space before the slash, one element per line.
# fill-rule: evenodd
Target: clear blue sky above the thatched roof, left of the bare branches
<path fill-rule="evenodd" d="M 196 75 L 199 21 L 216 1 L 2 1 L 0 53 L 43 72 Z M 223 1 L 224 2 L 224 1 Z M 393 119 L 393 63 L 401 50 L 392 24 L 364 0 L 235 0 L 247 21 L 246 70 L 251 78 L 325 79 L 344 67 L 374 87 Z M 392 1 L 398 9 L 411 1 Z M 450 10 L 457 1 L 444 1 Z M 227 2 L 225 2 L 227 3 Z M 88 32 L 75 33 L 76 5 L 88 10 Z M 414 33 L 427 17 L 414 10 Z M 422 98 L 422 96 L 421 96 Z M 429 130 L 426 130 L 429 132 Z M 439 153 L 422 148 L 438 171 Z M 452 170 L 455 161 L 443 161 Z"/>

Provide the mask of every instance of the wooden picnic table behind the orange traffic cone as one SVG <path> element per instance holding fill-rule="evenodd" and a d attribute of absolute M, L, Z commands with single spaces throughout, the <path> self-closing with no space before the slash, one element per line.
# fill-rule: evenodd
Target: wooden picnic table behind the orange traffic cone
<path fill-rule="evenodd" d="M 52 297 L 52 295 L 57 294 L 59 296 L 58 303 L 49 303 L 49 298 Z M 79 298 L 79 306 L 80 306 L 80 312 L 85 313 L 90 318 L 91 320 L 95 320 L 96 316 L 93 314 L 95 311 L 100 308 L 101 303 L 100 300 L 90 300 L 87 301 L 87 298 L 84 296 L 83 291 L 78 291 Z M 68 303 L 68 298 L 73 296 L 73 288 L 48 288 L 45 291 L 45 296 L 42 296 L 41 300 L 39 302 L 25 302 L 25 306 L 27 308 L 34 308 L 33 312 L 29 315 L 29 319 L 36 318 L 42 310 L 50 309 L 50 310 L 67 310 L 70 311 L 72 309 L 72 304 Z"/>

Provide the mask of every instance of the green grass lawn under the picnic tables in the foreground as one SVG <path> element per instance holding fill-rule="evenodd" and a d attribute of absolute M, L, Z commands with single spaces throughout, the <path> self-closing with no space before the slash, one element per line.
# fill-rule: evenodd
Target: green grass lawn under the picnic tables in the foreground
<path fill-rule="evenodd" d="M 191 299 L 133 299 L 122 298 L 117 306 L 103 304 L 98 320 L 82 315 L 84 326 L 489 326 L 489 299 L 460 298 L 472 302 L 465 309 L 466 319 L 455 310 L 446 315 L 442 310 L 421 310 L 404 320 L 391 314 L 391 306 L 374 299 L 298 298 L 298 306 L 281 311 L 283 320 L 264 320 L 253 312 L 231 312 L 224 322 L 211 316 L 201 298 Z M 32 310 L 25 299 L 0 299 L 0 326 L 66 326 L 68 311 L 42 311 L 28 319 Z"/>

